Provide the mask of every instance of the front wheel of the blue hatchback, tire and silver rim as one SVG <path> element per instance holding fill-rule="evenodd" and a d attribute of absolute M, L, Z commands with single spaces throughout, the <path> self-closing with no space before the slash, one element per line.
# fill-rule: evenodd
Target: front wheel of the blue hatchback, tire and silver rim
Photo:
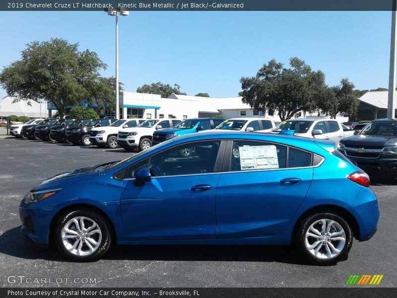
<path fill-rule="evenodd" d="M 88 209 L 75 209 L 58 220 L 55 242 L 66 258 L 77 262 L 92 262 L 106 253 L 112 236 L 109 223 L 101 214 Z"/>

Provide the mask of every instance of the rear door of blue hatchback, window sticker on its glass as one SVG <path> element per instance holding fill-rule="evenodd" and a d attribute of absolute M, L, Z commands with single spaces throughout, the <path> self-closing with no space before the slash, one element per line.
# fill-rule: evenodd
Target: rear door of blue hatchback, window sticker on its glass
<path fill-rule="evenodd" d="M 280 233 L 306 197 L 312 178 L 310 152 L 266 142 L 229 141 L 216 194 L 216 237 Z"/>

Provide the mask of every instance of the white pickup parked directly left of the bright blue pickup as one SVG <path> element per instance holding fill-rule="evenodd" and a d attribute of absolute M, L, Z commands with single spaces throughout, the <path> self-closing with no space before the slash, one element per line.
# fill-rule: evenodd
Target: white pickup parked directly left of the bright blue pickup
<path fill-rule="evenodd" d="M 127 151 L 138 148 L 139 151 L 152 146 L 153 133 L 158 129 L 173 128 L 181 120 L 178 119 L 148 119 L 138 127 L 123 128 L 119 131 L 117 144 Z"/>

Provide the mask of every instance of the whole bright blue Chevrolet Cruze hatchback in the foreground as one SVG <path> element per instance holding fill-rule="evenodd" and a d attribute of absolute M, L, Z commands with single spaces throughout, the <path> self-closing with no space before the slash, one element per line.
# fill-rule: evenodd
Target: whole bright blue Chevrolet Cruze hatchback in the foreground
<path fill-rule="evenodd" d="M 190 134 L 123 161 L 54 176 L 22 200 L 22 232 L 74 261 L 118 244 L 293 244 L 311 263 L 344 259 L 376 231 L 366 173 L 331 141 Z M 178 152 L 191 148 L 192 154 Z"/>

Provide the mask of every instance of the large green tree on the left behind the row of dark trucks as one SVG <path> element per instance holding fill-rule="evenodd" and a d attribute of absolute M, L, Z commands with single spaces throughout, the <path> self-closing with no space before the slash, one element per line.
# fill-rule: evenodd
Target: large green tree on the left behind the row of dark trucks
<path fill-rule="evenodd" d="M 95 52 L 80 52 L 77 43 L 34 41 L 21 52 L 20 60 L 2 70 L 0 83 L 8 94 L 17 97 L 14 101 L 46 99 L 63 118 L 68 105 L 86 101 L 103 107 L 115 102 L 112 86 L 99 74 L 106 68 Z"/>

